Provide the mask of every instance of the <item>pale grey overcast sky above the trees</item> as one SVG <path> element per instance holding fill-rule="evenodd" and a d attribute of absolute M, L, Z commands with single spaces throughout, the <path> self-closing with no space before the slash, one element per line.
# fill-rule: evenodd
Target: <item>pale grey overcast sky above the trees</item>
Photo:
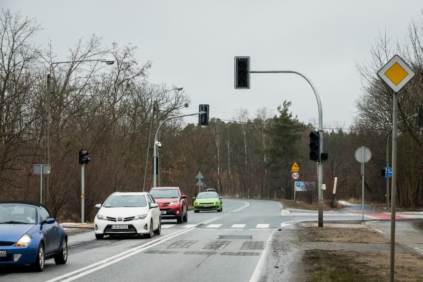
<path fill-rule="evenodd" d="M 379 31 L 404 42 L 422 0 L 0 0 L 45 28 L 36 43 L 52 41 L 57 59 L 92 34 L 104 43 L 132 43 L 148 80 L 178 85 L 191 99 L 184 114 L 210 104 L 210 116 L 232 120 L 239 108 L 254 117 L 291 101 L 305 123 L 315 120 L 314 92 L 297 74 L 252 73 L 251 88 L 234 89 L 234 57 L 251 57 L 251 70 L 295 70 L 315 85 L 324 127 L 348 127 L 361 93 L 355 61 L 370 59 Z M 190 123 L 198 118 L 189 117 Z M 235 118 L 237 120 L 237 118 Z"/>

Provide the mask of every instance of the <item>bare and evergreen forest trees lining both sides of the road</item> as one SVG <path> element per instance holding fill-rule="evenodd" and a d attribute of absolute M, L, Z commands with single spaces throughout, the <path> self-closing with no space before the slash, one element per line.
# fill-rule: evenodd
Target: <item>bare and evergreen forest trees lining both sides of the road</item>
<path fill-rule="evenodd" d="M 51 43 L 42 47 L 34 41 L 41 29 L 36 19 L 1 10 L 0 198 L 39 201 L 40 177 L 33 174 L 33 164 L 50 163 L 51 173 L 43 181 L 43 202 L 55 216 L 80 220 L 77 158 L 83 148 L 91 158 L 85 166 L 84 195 L 85 218 L 91 220 L 94 205 L 112 192 L 149 190 L 157 125 L 181 115 L 190 99 L 174 85 L 148 82 L 151 62 L 136 60 L 136 46 L 113 43 L 104 47 L 102 38 L 93 35 L 70 46 L 65 60 L 57 60 Z M 354 158 L 361 146 L 372 154 L 365 164 L 364 199 L 386 201 L 381 168 L 386 166 L 387 147 L 389 161 L 392 156 L 393 93 L 376 73 L 398 54 L 416 76 L 398 93 L 397 205 L 422 206 L 423 137 L 415 116 L 423 105 L 422 34 L 421 19 L 410 23 L 405 45 L 379 34 L 371 46 L 371 58 L 355 62 L 362 89 L 353 123 L 348 128 L 331 125 L 324 129 L 324 152 L 329 156 L 323 176 L 326 202 L 334 205 L 338 199 L 361 199 L 360 163 Z M 113 56 L 114 65 L 96 61 L 106 55 Z M 207 127 L 169 120 L 160 130 L 159 186 L 179 186 L 190 199 L 199 191 L 196 176 L 201 172 L 207 187 L 224 197 L 293 199 L 294 161 L 300 167 L 301 181 L 317 182 L 317 163 L 309 160 L 308 145 L 309 133 L 316 129 L 300 122 L 289 111 L 290 105 L 283 101 L 272 109 L 277 110 L 273 116 L 266 108 L 254 114 L 236 109 L 232 121 L 213 118 Z M 296 197 L 317 203 L 317 190 L 310 188 Z"/>

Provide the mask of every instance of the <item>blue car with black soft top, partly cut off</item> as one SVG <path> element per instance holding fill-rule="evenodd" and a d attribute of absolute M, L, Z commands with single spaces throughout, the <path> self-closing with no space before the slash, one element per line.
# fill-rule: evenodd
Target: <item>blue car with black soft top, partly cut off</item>
<path fill-rule="evenodd" d="M 0 201 L 0 265 L 29 264 L 43 271 L 45 260 L 68 260 L 68 235 L 37 202 Z"/>

